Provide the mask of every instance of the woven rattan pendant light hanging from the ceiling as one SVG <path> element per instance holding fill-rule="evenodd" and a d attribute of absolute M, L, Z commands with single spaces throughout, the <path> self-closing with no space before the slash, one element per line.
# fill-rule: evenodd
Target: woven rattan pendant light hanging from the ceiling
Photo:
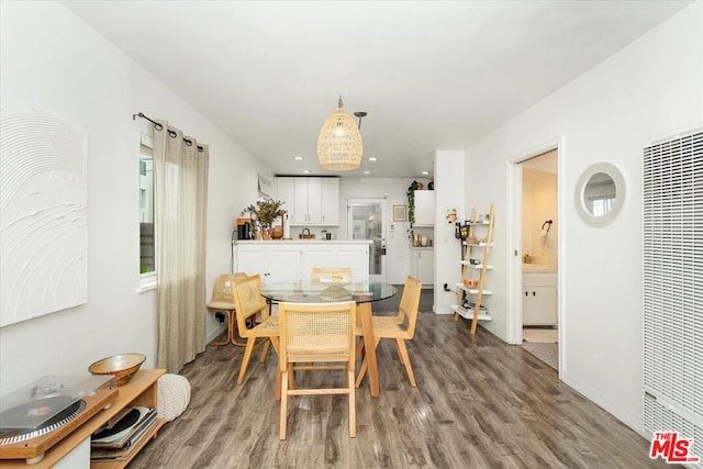
<path fill-rule="evenodd" d="M 317 137 L 317 158 L 323 169 L 348 171 L 361 165 L 361 132 L 343 108 L 339 97 L 335 109 L 322 125 Z"/>

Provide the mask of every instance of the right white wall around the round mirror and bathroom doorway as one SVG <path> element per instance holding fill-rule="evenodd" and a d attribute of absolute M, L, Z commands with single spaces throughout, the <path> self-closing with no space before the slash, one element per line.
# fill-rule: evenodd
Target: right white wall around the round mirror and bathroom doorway
<path fill-rule="evenodd" d="M 506 219 L 512 161 L 562 142 L 559 167 L 561 378 L 641 432 L 641 161 L 652 136 L 703 125 L 703 2 L 694 2 L 468 149 L 467 200 L 494 202 L 496 246 Z M 613 224 L 585 225 L 573 205 L 581 172 L 598 161 L 626 181 Z M 499 281 L 520 246 L 494 249 Z M 520 258 L 517 258 L 518 261 Z M 509 299 L 493 295 L 487 328 L 507 335 Z"/>

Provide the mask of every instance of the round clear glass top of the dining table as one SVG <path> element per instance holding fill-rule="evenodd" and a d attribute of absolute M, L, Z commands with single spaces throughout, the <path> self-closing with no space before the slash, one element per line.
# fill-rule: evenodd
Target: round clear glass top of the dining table
<path fill-rule="evenodd" d="M 356 301 L 366 303 L 386 300 L 398 290 L 389 283 L 352 281 L 341 287 L 328 287 L 323 283 L 278 282 L 263 286 L 261 295 L 277 302 L 291 303 L 327 303 L 334 301 Z"/>

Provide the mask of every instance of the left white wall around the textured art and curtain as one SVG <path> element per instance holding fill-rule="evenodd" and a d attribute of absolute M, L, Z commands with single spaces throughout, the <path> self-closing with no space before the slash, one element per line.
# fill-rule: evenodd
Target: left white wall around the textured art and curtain
<path fill-rule="evenodd" d="M 0 394 L 104 356 L 156 360 L 155 292 L 137 293 L 140 111 L 210 145 L 208 289 L 230 269 L 234 219 L 256 200 L 254 159 L 58 2 L 0 2 L 0 100 L 88 132 L 88 303 L 0 328 Z M 210 291 L 208 292 L 208 295 Z M 221 327 L 210 314 L 209 335 Z"/>

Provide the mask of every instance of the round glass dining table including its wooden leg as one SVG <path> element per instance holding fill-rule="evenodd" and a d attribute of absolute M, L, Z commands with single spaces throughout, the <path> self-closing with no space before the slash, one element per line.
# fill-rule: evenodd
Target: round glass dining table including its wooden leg
<path fill-rule="evenodd" d="M 264 284 L 261 297 L 271 302 L 331 303 L 355 301 L 356 314 L 361 322 L 365 359 L 368 365 L 369 391 L 371 397 L 380 395 L 378 365 L 376 362 L 376 339 L 371 320 L 371 303 L 393 297 L 398 290 L 389 283 L 352 281 L 344 286 L 327 286 L 320 282 L 274 282 Z"/>

